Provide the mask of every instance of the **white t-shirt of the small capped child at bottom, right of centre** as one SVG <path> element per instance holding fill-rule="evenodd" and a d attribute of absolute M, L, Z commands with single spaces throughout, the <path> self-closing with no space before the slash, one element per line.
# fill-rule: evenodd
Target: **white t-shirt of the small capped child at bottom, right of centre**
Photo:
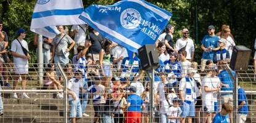
<path fill-rule="evenodd" d="M 180 117 L 181 114 L 182 114 L 182 109 L 180 107 L 171 106 L 168 109 L 167 116 Z M 177 118 L 177 119 L 170 119 L 170 122 L 180 123 L 180 119 L 179 118 Z"/>

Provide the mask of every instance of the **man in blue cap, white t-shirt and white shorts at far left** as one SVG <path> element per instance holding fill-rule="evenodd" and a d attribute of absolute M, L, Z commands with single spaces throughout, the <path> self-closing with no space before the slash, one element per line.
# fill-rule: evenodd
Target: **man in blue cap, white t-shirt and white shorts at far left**
<path fill-rule="evenodd" d="M 26 31 L 20 28 L 16 32 L 18 38 L 14 39 L 11 44 L 10 53 L 14 56 L 15 66 L 15 79 L 14 90 L 17 89 L 18 79 L 22 77 L 22 89 L 26 89 L 26 74 L 28 74 L 28 60 L 30 60 L 30 54 L 28 53 L 28 43 L 24 40 L 26 37 Z M 12 95 L 12 98 L 18 98 L 17 93 Z M 25 92 L 22 93 L 22 98 L 30 98 Z"/>

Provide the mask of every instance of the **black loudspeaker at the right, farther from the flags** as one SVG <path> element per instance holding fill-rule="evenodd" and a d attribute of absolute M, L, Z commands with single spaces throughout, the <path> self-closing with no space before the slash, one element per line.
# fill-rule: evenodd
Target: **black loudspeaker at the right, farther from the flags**
<path fill-rule="evenodd" d="M 230 68 L 234 71 L 247 71 L 252 50 L 246 46 L 235 46 L 231 56 Z"/>

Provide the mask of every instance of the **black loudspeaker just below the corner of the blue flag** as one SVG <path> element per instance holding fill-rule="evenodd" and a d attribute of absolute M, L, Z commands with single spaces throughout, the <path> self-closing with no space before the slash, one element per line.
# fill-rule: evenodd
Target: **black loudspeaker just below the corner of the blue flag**
<path fill-rule="evenodd" d="M 138 57 L 142 63 L 142 69 L 158 68 L 159 59 L 158 51 L 154 44 L 146 44 L 138 49 Z"/>

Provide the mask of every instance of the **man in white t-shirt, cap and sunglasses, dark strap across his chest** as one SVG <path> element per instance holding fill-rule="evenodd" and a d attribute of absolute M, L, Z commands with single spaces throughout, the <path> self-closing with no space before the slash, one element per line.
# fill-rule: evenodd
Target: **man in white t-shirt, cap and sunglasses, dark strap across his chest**
<path fill-rule="evenodd" d="M 182 30 L 182 34 L 183 37 L 177 40 L 175 48 L 177 50 L 186 50 L 186 60 L 192 62 L 194 59 L 194 42 L 192 39 L 188 38 L 190 33 L 187 28 L 184 28 Z"/>

